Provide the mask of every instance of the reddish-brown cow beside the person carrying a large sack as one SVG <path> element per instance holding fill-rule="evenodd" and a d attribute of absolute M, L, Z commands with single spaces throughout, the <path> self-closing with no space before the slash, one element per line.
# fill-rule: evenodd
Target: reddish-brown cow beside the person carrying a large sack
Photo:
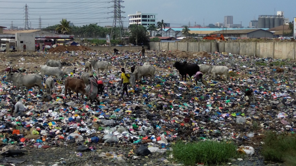
<path fill-rule="evenodd" d="M 79 97 L 78 92 L 81 92 L 81 95 L 83 97 L 83 95 L 86 94 L 86 91 L 84 88 L 86 88 L 86 86 L 84 84 L 83 79 L 78 79 L 74 77 L 67 77 L 65 79 L 65 97 L 67 97 L 68 90 L 69 90 L 70 97 L 71 97 L 71 91 L 76 92 L 77 98 Z"/>

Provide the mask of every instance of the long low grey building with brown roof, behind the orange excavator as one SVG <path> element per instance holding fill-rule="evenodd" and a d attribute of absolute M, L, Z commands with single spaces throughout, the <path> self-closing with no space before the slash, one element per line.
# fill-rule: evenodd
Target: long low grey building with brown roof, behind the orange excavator
<path fill-rule="evenodd" d="M 213 35 L 223 34 L 224 37 L 235 38 L 273 38 L 273 32 L 263 29 L 240 29 L 240 30 L 220 30 L 212 33 Z"/>

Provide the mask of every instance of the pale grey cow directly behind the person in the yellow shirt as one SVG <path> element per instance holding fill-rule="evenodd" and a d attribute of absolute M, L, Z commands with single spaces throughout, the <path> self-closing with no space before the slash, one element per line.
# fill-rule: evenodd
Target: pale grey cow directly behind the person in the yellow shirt
<path fill-rule="evenodd" d="M 155 67 L 152 65 L 145 65 L 145 66 L 135 66 L 135 70 L 133 71 L 135 75 L 135 80 L 138 81 L 142 78 L 142 76 L 149 77 L 149 84 L 151 80 L 155 82 Z"/>

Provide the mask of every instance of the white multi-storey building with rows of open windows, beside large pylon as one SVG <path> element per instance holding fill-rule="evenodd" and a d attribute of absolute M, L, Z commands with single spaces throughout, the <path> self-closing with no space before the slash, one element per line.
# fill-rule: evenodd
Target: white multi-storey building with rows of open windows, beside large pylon
<path fill-rule="evenodd" d="M 136 14 L 129 14 L 128 15 L 128 25 L 132 24 L 138 24 L 143 25 L 144 27 L 148 27 L 148 25 L 155 25 L 157 24 L 156 21 L 156 15 L 157 14 L 151 14 L 151 13 L 141 13 L 136 12 Z"/>

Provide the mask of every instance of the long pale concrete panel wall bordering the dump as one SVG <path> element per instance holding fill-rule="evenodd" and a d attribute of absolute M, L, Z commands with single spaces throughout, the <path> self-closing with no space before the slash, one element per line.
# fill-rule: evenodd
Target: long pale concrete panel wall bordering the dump
<path fill-rule="evenodd" d="M 259 58 L 296 59 L 294 42 L 150 42 L 150 50 L 190 51 L 190 52 L 226 52 Z"/>

